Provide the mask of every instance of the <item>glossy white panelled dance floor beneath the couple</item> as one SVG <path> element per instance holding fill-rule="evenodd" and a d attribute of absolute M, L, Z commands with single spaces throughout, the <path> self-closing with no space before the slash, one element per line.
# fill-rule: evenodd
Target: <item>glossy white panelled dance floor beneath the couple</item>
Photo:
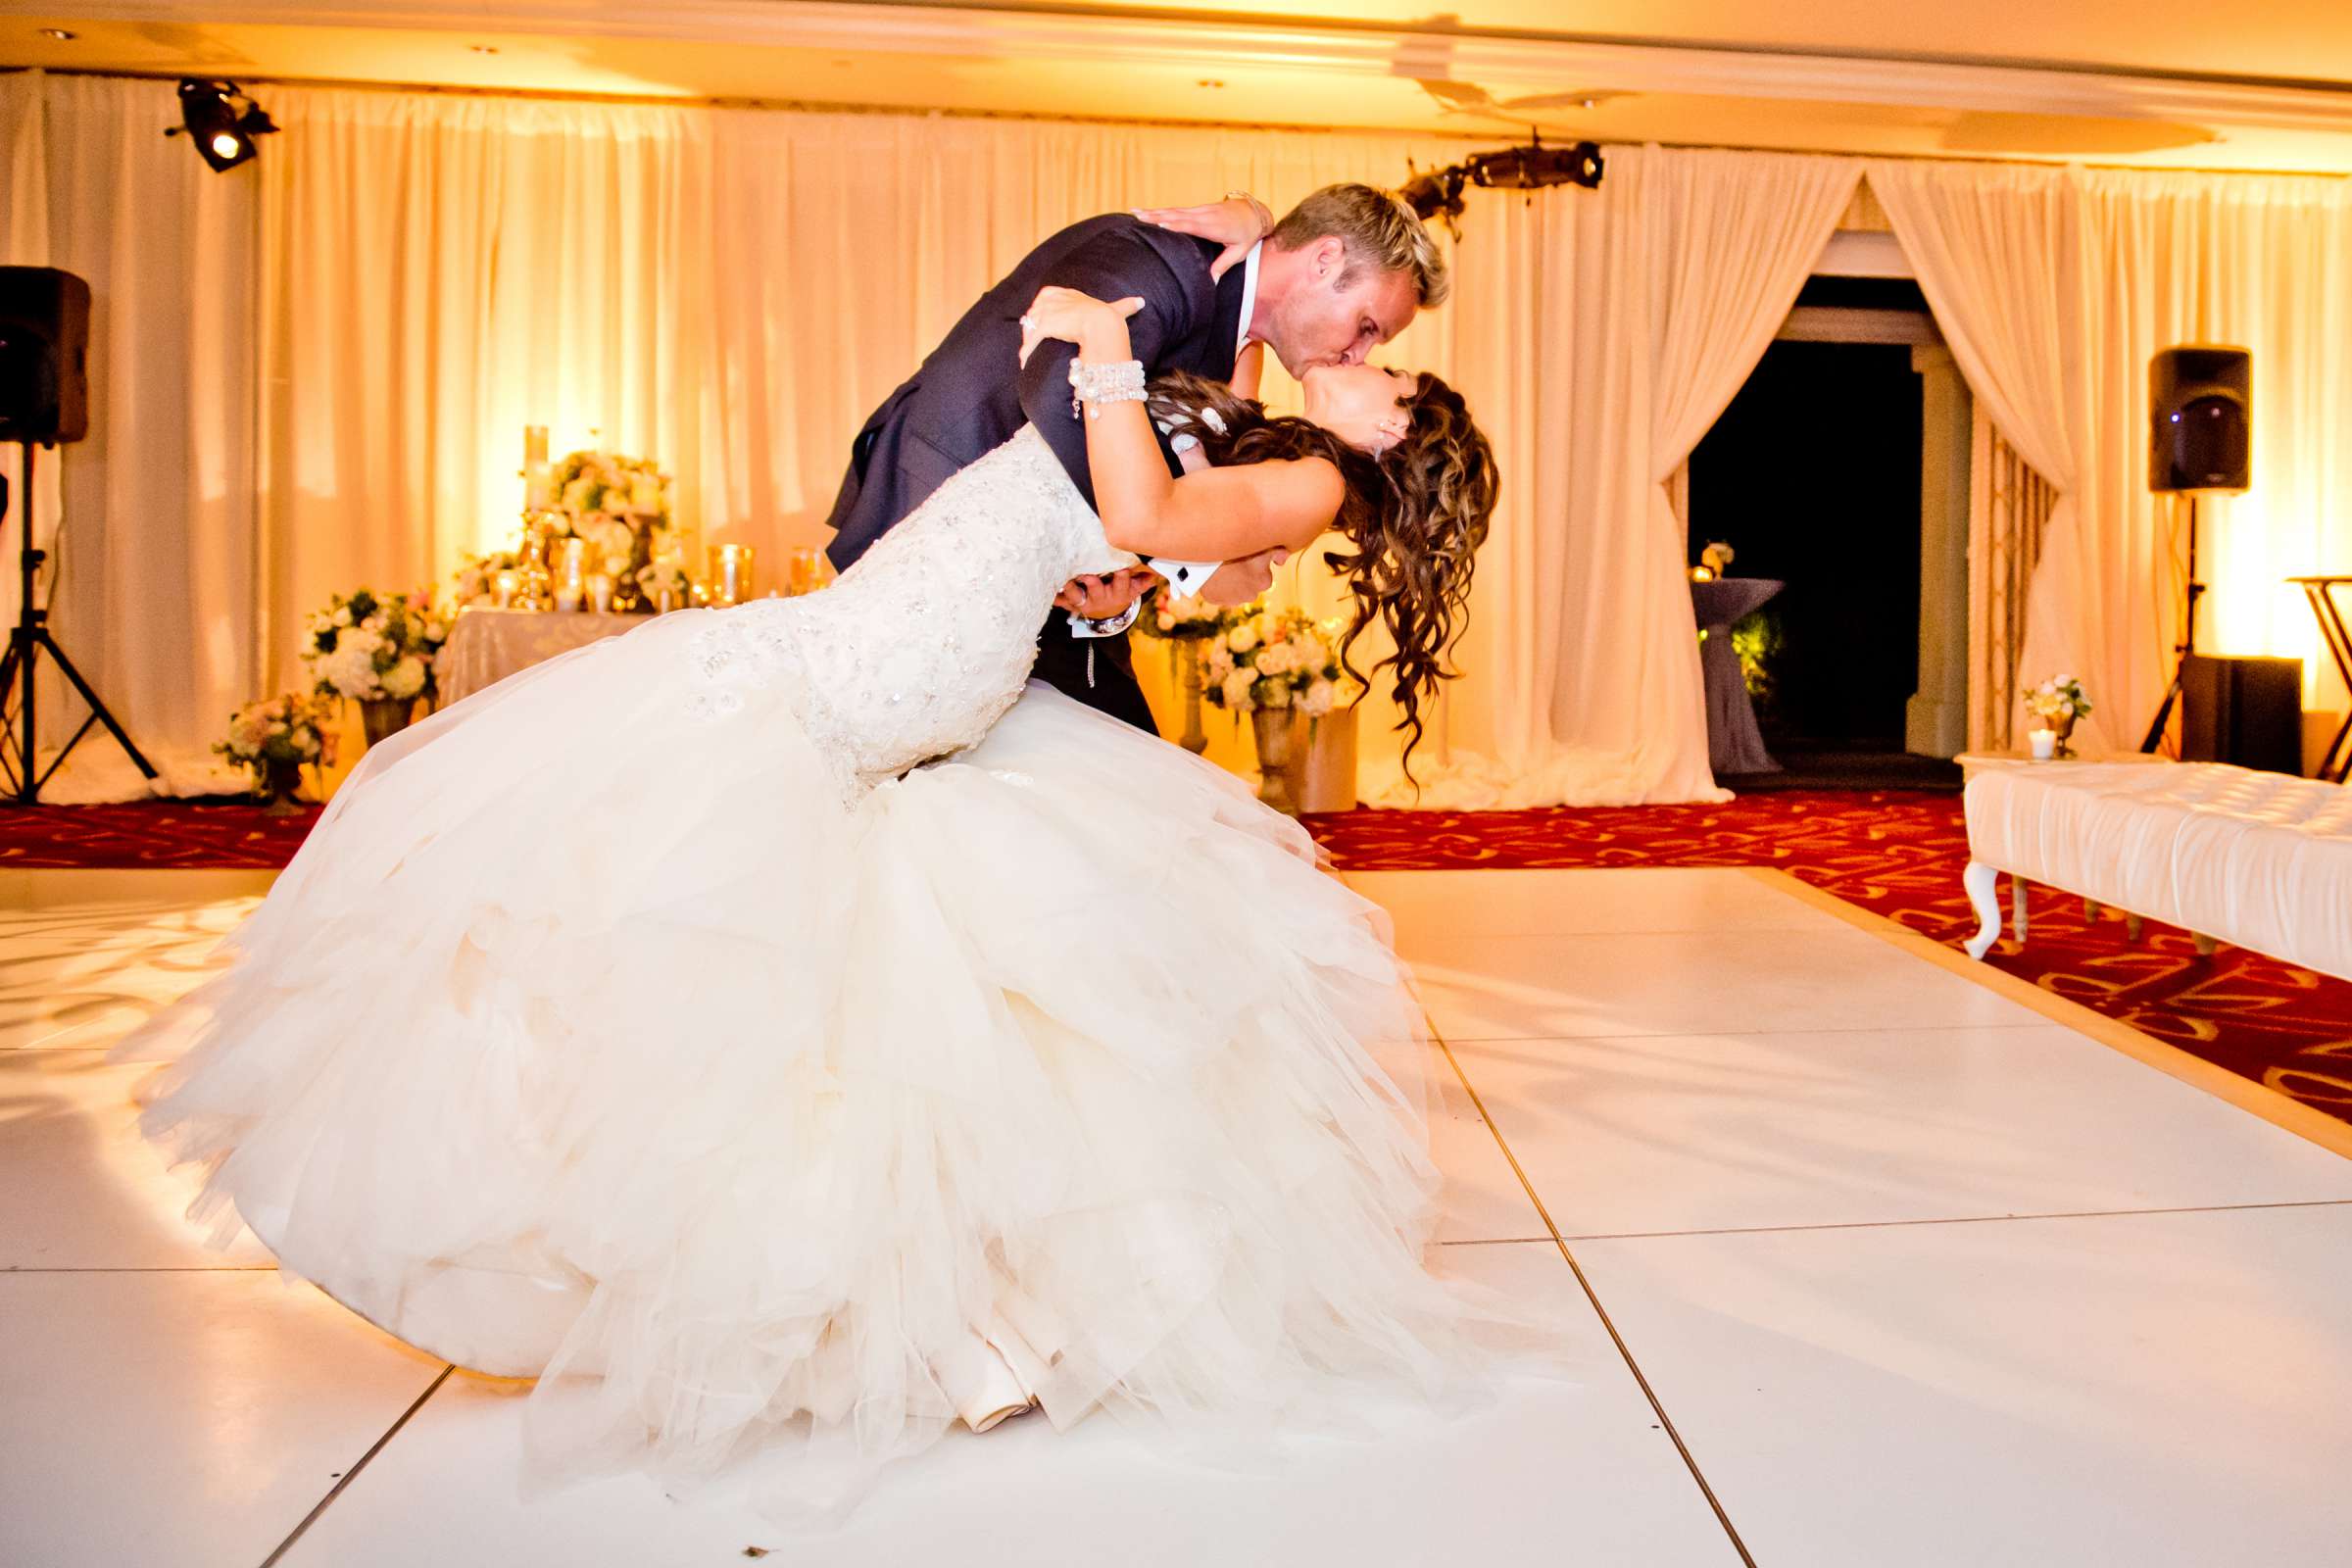
<path fill-rule="evenodd" d="M 1778 875 L 1352 882 L 1446 1041 L 1444 1267 L 1573 1307 L 1583 1385 L 1279 1476 L 1025 1418 L 795 1535 L 522 1505 L 513 1387 L 200 1246 L 101 1056 L 268 875 L 0 872 L 0 1561 L 2345 1561 L 2338 1124 Z"/>

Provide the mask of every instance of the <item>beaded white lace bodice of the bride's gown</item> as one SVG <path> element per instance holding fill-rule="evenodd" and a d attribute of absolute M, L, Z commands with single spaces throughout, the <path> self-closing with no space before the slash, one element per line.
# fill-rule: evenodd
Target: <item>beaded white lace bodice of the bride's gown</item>
<path fill-rule="evenodd" d="M 861 785 L 976 743 L 1021 696 L 1073 576 L 1134 564 L 1035 425 L 960 470 L 828 590 L 708 614 L 694 712 L 786 698 Z"/>

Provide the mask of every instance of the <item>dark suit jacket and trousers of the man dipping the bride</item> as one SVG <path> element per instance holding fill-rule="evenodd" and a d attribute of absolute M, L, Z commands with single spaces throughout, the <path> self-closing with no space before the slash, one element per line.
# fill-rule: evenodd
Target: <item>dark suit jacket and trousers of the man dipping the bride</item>
<path fill-rule="evenodd" d="M 835 538 L 826 550 L 833 564 L 847 569 L 948 475 L 1011 440 L 1028 421 L 1037 423 L 1091 505 L 1087 428 L 1070 416 L 1070 360 L 1077 348 L 1044 343 L 1021 367 L 1018 317 L 1047 284 L 1105 301 L 1141 296 L 1143 310 L 1127 322 L 1127 334 L 1145 376 L 1185 369 L 1230 381 L 1242 336 L 1242 268 L 1209 282 L 1216 254 L 1218 247 L 1207 240 L 1124 214 L 1087 219 L 1033 249 L 858 430 L 849 475 L 833 503 Z M 1098 649 L 1091 684 L 1089 642 Z M 1037 635 L 1037 677 L 1152 729 L 1127 637 L 1070 637 L 1068 621 L 1054 611 Z"/>

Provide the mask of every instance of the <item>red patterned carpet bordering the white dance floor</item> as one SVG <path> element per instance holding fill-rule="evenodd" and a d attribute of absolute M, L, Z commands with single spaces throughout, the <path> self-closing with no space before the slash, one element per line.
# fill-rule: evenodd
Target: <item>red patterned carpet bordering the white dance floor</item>
<path fill-rule="evenodd" d="M 318 811 L 245 804 L 0 809 L 0 867 L 285 865 Z M 1957 795 L 1790 790 L 1726 806 L 1564 811 L 1345 811 L 1308 818 L 1343 870 L 1503 865 L 1776 865 L 1959 947 L 1976 929 L 1959 889 Z M 2034 985 L 2352 1121 L 2352 983 L 2241 947 L 2199 959 L 2185 931 L 2086 924 L 2082 900 L 2034 889 L 2032 943 L 1990 961 Z"/>

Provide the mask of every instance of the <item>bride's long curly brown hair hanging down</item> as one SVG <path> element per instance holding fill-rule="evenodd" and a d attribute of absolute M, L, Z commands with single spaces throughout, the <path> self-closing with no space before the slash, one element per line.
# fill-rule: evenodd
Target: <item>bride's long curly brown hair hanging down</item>
<path fill-rule="evenodd" d="M 1348 498 L 1331 522 L 1350 550 L 1324 550 L 1324 562 L 1348 578 L 1355 621 L 1341 637 L 1338 658 L 1357 684 L 1369 686 L 1350 661 L 1350 649 L 1378 618 L 1397 651 L 1374 672 L 1390 672 L 1390 696 L 1402 710 L 1404 776 L 1421 745 L 1421 703 L 1451 679 L 1446 651 L 1461 635 L 1470 599 L 1470 569 L 1494 517 L 1498 473 L 1494 449 L 1470 421 L 1461 393 L 1421 371 L 1404 411 L 1411 433 L 1374 456 L 1350 447 L 1310 418 L 1275 418 L 1263 404 L 1237 397 L 1230 386 L 1183 371 L 1150 383 L 1150 411 L 1171 433 L 1192 433 L 1211 463 L 1270 463 L 1324 458 L 1345 480 Z"/>

